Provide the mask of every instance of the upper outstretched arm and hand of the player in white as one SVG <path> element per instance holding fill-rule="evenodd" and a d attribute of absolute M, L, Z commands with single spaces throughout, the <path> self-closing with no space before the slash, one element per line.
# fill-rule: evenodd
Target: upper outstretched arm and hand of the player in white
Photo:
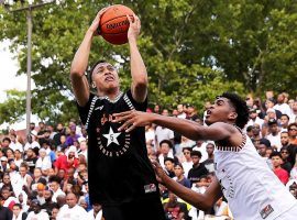
<path fill-rule="evenodd" d="M 186 119 L 164 117 L 141 111 L 127 111 L 113 116 L 116 117 L 114 122 L 123 122 L 119 130 L 127 130 L 127 132 L 130 132 L 136 127 L 145 127 L 155 123 L 176 131 L 190 140 L 219 141 L 229 139 L 235 131 L 233 127 L 222 122 L 217 122 L 210 127 L 204 127 Z"/>

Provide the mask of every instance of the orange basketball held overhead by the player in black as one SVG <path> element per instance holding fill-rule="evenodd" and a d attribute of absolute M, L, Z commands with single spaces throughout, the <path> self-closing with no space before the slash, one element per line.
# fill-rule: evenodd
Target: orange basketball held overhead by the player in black
<path fill-rule="evenodd" d="M 122 4 L 114 4 L 107 9 L 99 23 L 99 33 L 109 43 L 120 45 L 128 42 L 127 33 L 130 26 L 127 18 L 133 19 L 134 12 Z"/>

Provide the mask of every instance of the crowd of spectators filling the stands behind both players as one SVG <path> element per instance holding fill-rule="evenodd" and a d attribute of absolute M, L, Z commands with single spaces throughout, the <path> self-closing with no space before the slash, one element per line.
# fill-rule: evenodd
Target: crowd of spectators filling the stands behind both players
<path fill-rule="evenodd" d="M 276 98 L 276 99 L 275 99 Z M 279 180 L 297 198 L 297 100 L 287 94 L 265 94 L 262 100 L 246 96 L 250 121 L 246 134 L 258 154 Z M 204 125 L 205 111 L 191 105 L 147 111 L 193 120 Z M 213 152 L 209 141 L 193 141 L 155 124 L 145 128 L 147 155 L 157 160 L 166 174 L 185 187 L 204 194 L 215 176 Z M 88 196 L 88 136 L 72 120 L 55 127 L 31 123 L 24 141 L 14 130 L 1 138 L 0 220 L 6 219 L 103 219 L 101 206 Z M 232 219 L 224 198 L 206 212 L 183 201 L 163 185 L 161 199 L 167 219 Z M 282 199 L 282 198 L 279 198 Z"/>

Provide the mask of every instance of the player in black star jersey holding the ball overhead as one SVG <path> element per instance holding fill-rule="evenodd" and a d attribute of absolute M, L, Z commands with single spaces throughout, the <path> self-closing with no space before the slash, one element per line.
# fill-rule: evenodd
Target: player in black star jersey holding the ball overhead
<path fill-rule="evenodd" d="M 118 72 L 107 62 L 96 63 L 89 72 L 96 95 L 90 92 L 85 76 L 91 42 L 106 10 L 98 12 L 87 30 L 70 69 L 79 116 L 88 131 L 90 201 L 102 205 L 106 220 L 164 220 L 158 183 L 147 157 L 144 128 L 119 132 L 120 123 L 112 122 L 113 113 L 145 111 L 147 106 L 147 74 L 136 45 L 141 22 L 135 14 L 133 21 L 128 16 L 131 89 L 121 91 Z"/>

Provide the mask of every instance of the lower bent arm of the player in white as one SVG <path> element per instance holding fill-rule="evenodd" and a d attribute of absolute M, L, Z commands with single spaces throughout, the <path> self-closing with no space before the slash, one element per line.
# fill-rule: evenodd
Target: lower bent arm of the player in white
<path fill-rule="evenodd" d="M 195 206 L 200 210 L 210 209 L 215 202 L 222 196 L 220 184 L 215 177 L 210 186 L 207 188 L 205 194 L 198 194 L 183 185 L 178 184 L 170 177 L 168 177 L 157 162 L 152 162 L 157 179 L 167 187 L 168 190 L 173 191 L 179 198 L 184 199 L 188 204 Z"/>

